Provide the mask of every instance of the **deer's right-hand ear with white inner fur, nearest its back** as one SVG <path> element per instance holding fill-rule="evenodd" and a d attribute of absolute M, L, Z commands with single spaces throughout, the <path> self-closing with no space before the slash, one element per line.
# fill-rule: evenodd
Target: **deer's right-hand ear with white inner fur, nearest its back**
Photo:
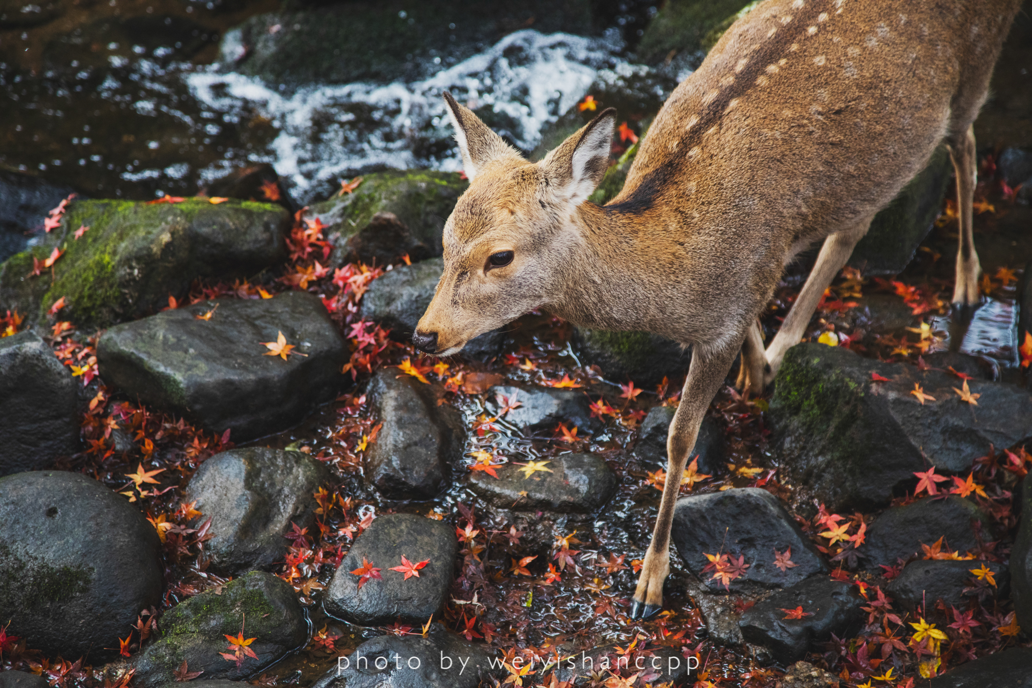
<path fill-rule="evenodd" d="M 609 168 L 616 109 L 609 107 L 541 161 L 549 179 L 571 202 L 583 203 Z"/>

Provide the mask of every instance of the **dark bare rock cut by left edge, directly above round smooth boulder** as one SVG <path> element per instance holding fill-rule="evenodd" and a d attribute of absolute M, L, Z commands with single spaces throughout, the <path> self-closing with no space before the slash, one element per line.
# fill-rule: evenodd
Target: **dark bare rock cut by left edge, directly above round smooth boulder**
<path fill-rule="evenodd" d="M 35 332 L 0 338 L 0 476 L 78 450 L 77 384 Z"/>

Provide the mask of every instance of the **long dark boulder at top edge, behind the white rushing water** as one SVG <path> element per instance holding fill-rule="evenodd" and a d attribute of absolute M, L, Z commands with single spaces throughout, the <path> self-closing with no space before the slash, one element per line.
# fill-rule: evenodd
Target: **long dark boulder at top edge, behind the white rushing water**
<path fill-rule="evenodd" d="M 434 63 L 454 64 L 531 23 L 546 34 L 584 35 L 591 20 L 592 6 L 584 0 L 501 6 L 429 0 L 406 5 L 404 13 L 336 5 L 253 17 L 226 33 L 222 59 L 269 84 L 413 81 L 438 71 Z M 314 44 L 334 47 L 312 51 Z"/>

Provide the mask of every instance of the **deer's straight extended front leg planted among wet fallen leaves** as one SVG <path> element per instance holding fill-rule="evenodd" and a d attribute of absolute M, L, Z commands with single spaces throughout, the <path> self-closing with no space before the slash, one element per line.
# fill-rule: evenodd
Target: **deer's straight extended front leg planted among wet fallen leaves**
<path fill-rule="evenodd" d="M 742 328 L 743 331 L 745 329 Z M 681 404 L 674 414 L 667 436 L 667 484 L 663 488 L 652 543 L 638 576 L 638 588 L 631 607 L 632 619 L 648 619 L 663 609 L 663 584 L 670 572 L 670 527 L 674 522 L 674 505 L 680 492 L 684 464 L 688 452 L 696 446 L 703 416 L 731 370 L 739 347 L 740 343 L 710 352 L 696 346 L 691 352 L 691 365 L 681 392 Z"/>

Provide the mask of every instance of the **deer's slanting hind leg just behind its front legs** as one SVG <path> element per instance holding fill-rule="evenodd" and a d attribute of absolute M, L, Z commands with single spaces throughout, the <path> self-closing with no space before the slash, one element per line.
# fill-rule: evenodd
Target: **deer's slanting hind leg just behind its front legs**
<path fill-rule="evenodd" d="M 865 218 L 853 226 L 831 234 L 825 239 L 825 244 L 820 247 L 820 253 L 817 255 L 817 262 L 810 271 L 810 276 L 807 277 L 803 291 L 799 293 L 788 316 L 781 324 L 781 329 L 778 330 L 771 346 L 767 348 L 768 368 L 765 384 L 772 382 L 777 375 L 785 352 L 799 343 L 810 318 L 813 317 L 813 312 L 817 308 L 820 296 L 828 289 L 828 285 L 832 284 L 832 280 L 835 279 L 846 261 L 849 260 L 853 248 L 867 233 L 873 219 L 874 216 Z"/>

